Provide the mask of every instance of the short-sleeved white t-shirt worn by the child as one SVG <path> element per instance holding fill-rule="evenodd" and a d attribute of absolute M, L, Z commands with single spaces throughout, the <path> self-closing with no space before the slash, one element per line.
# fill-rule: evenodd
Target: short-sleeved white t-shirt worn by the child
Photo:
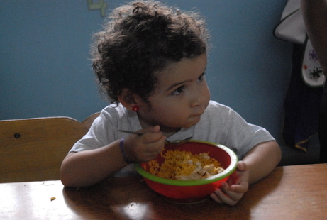
<path fill-rule="evenodd" d="M 74 144 L 70 152 L 101 148 L 128 135 L 118 132 L 118 129 L 127 131 L 142 129 L 138 115 L 121 104 L 106 106 L 94 120 L 89 132 Z M 242 160 L 258 143 L 275 141 L 265 128 L 247 123 L 233 109 L 216 101 L 209 102 L 199 123 L 190 128 L 181 128 L 167 140 L 181 140 L 190 136 L 193 137 L 192 140 L 225 145 L 238 155 L 239 160 Z M 135 172 L 133 165 L 128 165 L 119 170 L 116 176 L 131 175 L 131 172 Z"/>

